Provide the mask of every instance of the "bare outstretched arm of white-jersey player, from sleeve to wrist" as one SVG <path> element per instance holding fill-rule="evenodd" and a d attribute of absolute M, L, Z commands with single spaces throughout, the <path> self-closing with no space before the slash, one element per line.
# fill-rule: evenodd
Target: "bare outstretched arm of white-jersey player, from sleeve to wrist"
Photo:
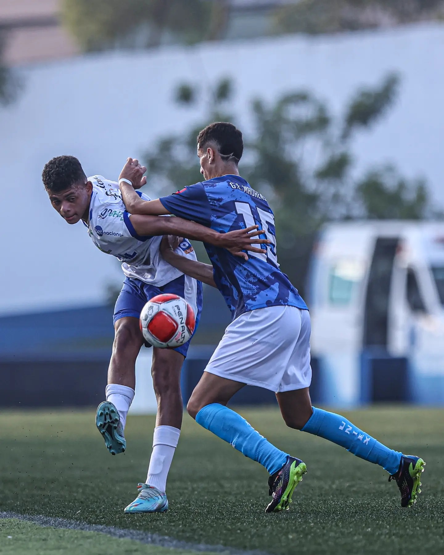
<path fill-rule="evenodd" d="M 220 246 L 223 236 L 211 228 L 182 218 L 163 218 L 133 214 L 131 223 L 138 235 L 176 235 Z"/>

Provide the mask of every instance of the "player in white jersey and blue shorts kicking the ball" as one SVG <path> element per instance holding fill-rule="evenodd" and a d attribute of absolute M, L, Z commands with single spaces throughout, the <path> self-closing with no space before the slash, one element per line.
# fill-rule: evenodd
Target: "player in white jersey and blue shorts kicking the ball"
<path fill-rule="evenodd" d="M 145 171 L 138 160 L 129 158 L 122 178 L 139 187 L 146 183 Z M 166 263 L 159 254 L 161 236 L 168 233 L 205 241 L 245 258 L 241 251 L 251 243 L 249 231 L 252 230 L 219 234 L 181 218 L 130 215 L 125 210 L 119 184 L 101 175 L 87 178 L 79 160 L 72 156 L 50 160 L 43 169 L 42 179 L 53 208 L 68 224 L 82 220 L 93 243 L 104 253 L 117 257 L 126 276 L 114 310 L 115 339 L 105 390 L 107 400 L 100 403 L 96 416 L 105 445 L 116 455 L 126 447 L 124 428 L 134 397 L 135 360 L 144 344 L 139 329 L 142 307 L 155 295 L 174 293 L 184 297 L 193 307 L 196 327 L 199 321 L 201 282 Z M 149 200 L 145 195 L 142 198 Z M 256 233 L 253 231 L 253 235 Z M 253 242 L 264 243 L 260 239 Z M 181 242 L 177 254 L 196 260 L 186 239 Z M 139 495 L 125 512 L 164 512 L 168 509 L 166 477 L 179 440 L 183 415 L 180 369 L 188 346 L 189 342 L 177 349 L 153 349 L 152 376 L 158 402 L 153 452 L 147 480 L 139 483 Z"/>

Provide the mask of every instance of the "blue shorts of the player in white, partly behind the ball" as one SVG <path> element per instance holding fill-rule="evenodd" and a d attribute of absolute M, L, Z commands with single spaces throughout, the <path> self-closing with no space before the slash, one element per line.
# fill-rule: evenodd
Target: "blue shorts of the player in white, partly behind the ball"
<path fill-rule="evenodd" d="M 191 278 L 188 277 L 186 278 L 188 284 L 190 282 L 190 279 Z M 202 284 L 200 281 L 197 281 L 196 284 L 197 286 L 195 288 L 195 298 L 190 299 L 189 294 L 185 294 L 185 275 L 181 275 L 180 278 L 176 278 L 175 280 L 170 281 L 162 287 L 149 285 L 139 279 L 125 278 L 122 291 L 120 291 L 119 296 L 117 297 L 117 301 L 115 301 L 113 316 L 114 324 L 120 318 L 124 318 L 127 316 L 139 318 L 140 312 L 150 299 L 162 293 L 173 293 L 175 295 L 183 297 L 195 309 L 196 326 L 194 328 L 194 335 L 196 330 L 198 329 L 200 313 L 202 311 Z M 187 287 L 187 291 L 189 291 L 189 287 Z M 186 357 L 188 347 L 190 346 L 190 341 L 191 339 L 188 340 L 184 345 L 176 347 L 176 349 L 173 350 L 180 352 L 181 355 Z M 145 346 L 149 347 L 150 345 L 145 344 Z"/>

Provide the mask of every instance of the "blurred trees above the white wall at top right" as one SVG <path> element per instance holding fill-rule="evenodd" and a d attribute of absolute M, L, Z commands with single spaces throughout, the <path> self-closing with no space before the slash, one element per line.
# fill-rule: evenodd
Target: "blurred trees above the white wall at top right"
<path fill-rule="evenodd" d="M 443 0 L 300 0 L 276 9 L 277 33 L 335 33 L 442 19 Z"/>

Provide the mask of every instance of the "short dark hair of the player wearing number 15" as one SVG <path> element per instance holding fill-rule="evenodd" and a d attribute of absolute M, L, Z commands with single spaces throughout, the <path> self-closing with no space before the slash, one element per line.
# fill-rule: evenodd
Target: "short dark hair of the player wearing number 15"
<path fill-rule="evenodd" d="M 242 133 L 232 123 L 216 122 L 207 125 L 198 135 L 198 147 L 204 149 L 208 143 L 218 147 L 221 158 L 236 164 L 244 152 Z"/>

